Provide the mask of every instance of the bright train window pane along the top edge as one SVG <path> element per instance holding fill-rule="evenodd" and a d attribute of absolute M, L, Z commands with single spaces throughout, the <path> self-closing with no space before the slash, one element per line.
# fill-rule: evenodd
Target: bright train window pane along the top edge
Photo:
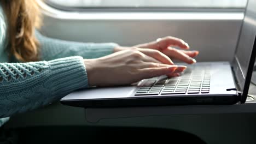
<path fill-rule="evenodd" d="M 245 8 L 247 0 L 46 0 L 57 8 Z"/>

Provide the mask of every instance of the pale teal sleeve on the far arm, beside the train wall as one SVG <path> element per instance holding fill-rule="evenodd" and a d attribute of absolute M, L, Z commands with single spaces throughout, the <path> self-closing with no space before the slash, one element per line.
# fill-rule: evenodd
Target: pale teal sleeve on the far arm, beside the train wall
<path fill-rule="evenodd" d="M 115 43 L 79 43 L 45 37 L 36 31 L 36 37 L 41 47 L 42 59 L 51 59 L 82 56 L 85 59 L 98 58 L 113 53 Z"/>

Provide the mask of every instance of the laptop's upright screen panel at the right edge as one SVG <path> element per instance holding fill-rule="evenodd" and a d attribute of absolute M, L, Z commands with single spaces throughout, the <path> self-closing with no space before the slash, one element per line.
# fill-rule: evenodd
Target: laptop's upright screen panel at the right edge
<path fill-rule="evenodd" d="M 254 62 L 254 56 L 252 55 L 254 39 L 256 34 L 256 1 L 248 0 L 247 8 L 245 12 L 245 18 L 243 20 L 242 28 L 240 31 L 240 38 L 237 43 L 233 70 L 236 75 L 238 86 L 243 94 L 245 91 L 248 93 L 248 88 L 245 88 L 246 77 L 251 79 L 252 68 L 249 68 L 250 60 Z M 252 59 L 253 58 L 253 59 Z M 249 71 L 248 71 L 249 68 Z"/>

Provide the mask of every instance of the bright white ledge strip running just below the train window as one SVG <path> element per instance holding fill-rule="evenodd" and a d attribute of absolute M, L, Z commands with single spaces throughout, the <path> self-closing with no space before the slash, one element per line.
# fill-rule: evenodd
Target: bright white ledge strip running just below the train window
<path fill-rule="evenodd" d="M 54 9 L 37 0 L 45 15 L 68 20 L 242 20 L 243 12 L 74 12 Z"/>

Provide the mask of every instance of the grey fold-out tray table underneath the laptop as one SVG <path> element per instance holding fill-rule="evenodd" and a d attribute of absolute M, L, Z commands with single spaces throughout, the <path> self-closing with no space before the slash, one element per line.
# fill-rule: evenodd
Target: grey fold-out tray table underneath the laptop
<path fill-rule="evenodd" d="M 234 105 L 177 105 L 148 107 L 111 107 L 85 109 L 86 121 L 97 123 L 100 119 L 141 117 L 154 115 L 197 115 L 213 113 L 256 113 L 256 86 L 251 84 L 245 104 Z"/>

